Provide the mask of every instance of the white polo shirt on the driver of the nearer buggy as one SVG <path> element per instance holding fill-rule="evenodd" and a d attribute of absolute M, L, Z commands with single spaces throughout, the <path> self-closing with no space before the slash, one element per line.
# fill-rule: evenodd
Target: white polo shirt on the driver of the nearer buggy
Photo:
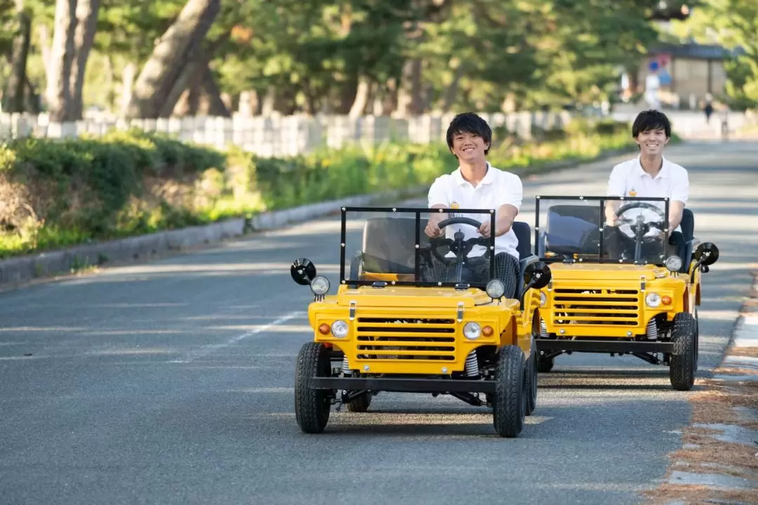
<path fill-rule="evenodd" d="M 445 174 L 437 177 L 429 189 L 429 207 L 433 205 L 444 205 L 448 208 L 460 208 L 460 209 L 495 209 L 495 219 L 499 217 L 499 209 L 501 205 L 511 204 L 518 210 L 521 210 L 522 198 L 524 196 L 524 188 L 521 178 L 515 173 L 506 172 L 504 170 L 497 169 L 487 162 L 487 175 L 480 182 L 477 187 L 471 185 L 461 175 L 460 167 L 453 173 Z M 456 214 L 447 214 L 449 217 L 453 217 Z M 461 214 L 462 217 L 471 217 L 481 221 L 481 223 L 488 223 L 490 221 L 490 214 Z M 479 232 L 474 226 L 466 224 L 449 225 L 443 228 L 445 235 L 448 238 L 453 238 L 456 231 L 463 232 L 465 238 L 481 237 Z M 495 237 L 495 254 L 500 252 L 506 252 L 511 254 L 518 260 L 518 238 L 516 238 L 513 229 L 509 229 L 507 233 Z M 484 254 L 485 249 L 479 246 L 475 247 L 470 255 L 481 256 Z"/>

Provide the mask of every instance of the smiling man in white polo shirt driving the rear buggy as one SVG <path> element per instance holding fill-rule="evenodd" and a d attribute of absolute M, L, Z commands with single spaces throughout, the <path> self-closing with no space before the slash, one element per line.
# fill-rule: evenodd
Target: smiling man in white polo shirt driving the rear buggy
<path fill-rule="evenodd" d="M 690 182 L 687 170 L 663 157 L 663 148 L 671 140 L 671 123 L 666 114 L 660 111 L 642 111 L 637 115 L 631 127 L 631 135 L 640 148 L 636 158 L 625 161 L 613 167 L 608 179 L 608 196 L 631 196 L 669 198 L 669 236 L 667 254 L 678 251 L 684 245 L 681 235 L 681 216 L 684 205 L 689 198 Z M 621 201 L 606 202 L 606 226 L 612 226 L 609 234 L 609 254 L 619 257 L 622 251 L 622 240 L 617 226 L 616 211 L 621 207 Z M 663 202 L 649 202 L 661 209 Z M 660 217 L 652 210 L 644 210 L 643 215 L 648 221 L 658 221 Z M 650 229 L 647 233 L 663 239 L 662 232 Z"/>

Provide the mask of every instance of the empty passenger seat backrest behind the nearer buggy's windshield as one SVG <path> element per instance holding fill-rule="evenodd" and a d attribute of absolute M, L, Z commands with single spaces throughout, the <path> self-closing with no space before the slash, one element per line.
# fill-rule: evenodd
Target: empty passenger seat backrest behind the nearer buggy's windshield
<path fill-rule="evenodd" d="M 371 217 L 363 226 L 364 269 L 375 273 L 414 273 L 415 217 Z M 421 247 L 428 245 L 421 223 Z"/>

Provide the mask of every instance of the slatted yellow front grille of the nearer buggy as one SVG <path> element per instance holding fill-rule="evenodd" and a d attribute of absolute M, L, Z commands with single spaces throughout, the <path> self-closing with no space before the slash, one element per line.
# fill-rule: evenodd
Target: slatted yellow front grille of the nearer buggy
<path fill-rule="evenodd" d="M 359 317 L 359 360 L 454 361 L 452 319 Z"/>

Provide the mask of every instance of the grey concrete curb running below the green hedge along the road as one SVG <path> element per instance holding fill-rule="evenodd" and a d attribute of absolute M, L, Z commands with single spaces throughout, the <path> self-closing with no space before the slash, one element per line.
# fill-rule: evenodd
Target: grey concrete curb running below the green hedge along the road
<path fill-rule="evenodd" d="M 612 149 L 588 160 L 572 158 L 555 164 L 534 167 L 534 169 L 525 167 L 516 173 L 519 176 L 546 173 L 580 164 L 595 163 L 609 157 L 625 154 L 631 150 L 630 148 Z M 419 195 L 425 192 L 427 187 L 424 185 L 405 190 L 356 195 L 285 210 L 274 210 L 258 214 L 252 218 L 239 217 L 208 225 L 189 226 L 188 228 L 155 232 L 149 235 L 117 238 L 107 242 L 96 242 L 57 251 L 12 257 L 7 260 L 0 260 L 0 288 L 17 288 L 38 279 L 74 273 L 75 270 L 82 267 L 96 267 L 110 262 L 139 260 L 166 251 L 173 252 L 196 245 L 221 242 L 250 232 L 278 229 L 288 223 L 327 216 L 337 212 L 343 206 L 365 206 L 374 201 Z"/>

